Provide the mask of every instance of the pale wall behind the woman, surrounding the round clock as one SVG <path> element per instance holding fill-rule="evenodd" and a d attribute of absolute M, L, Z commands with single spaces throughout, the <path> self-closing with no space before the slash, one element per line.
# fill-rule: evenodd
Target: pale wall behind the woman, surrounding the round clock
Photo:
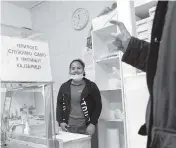
<path fill-rule="evenodd" d="M 55 1 L 44 2 L 32 10 L 33 29 L 43 32 L 49 40 L 55 101 L 60 84 L 68 79 L 69 63 L 82 57 L 91 20 L 111 4 L 109 1 Z M 71 17 L 80 7 L 89 11 L 90 21 L 84 30 L 75 31 Z"/>

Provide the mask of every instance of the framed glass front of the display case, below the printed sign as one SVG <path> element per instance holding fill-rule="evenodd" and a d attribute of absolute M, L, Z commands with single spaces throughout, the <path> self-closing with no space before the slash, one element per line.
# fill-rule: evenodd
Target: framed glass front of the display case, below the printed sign
<path fill-rule="evenodd" d="M 19 143 L 37 148 L 59 145 L 55 140 L 52 83 L 1 83 L 1 97 L 1 131 L 8 147 L 19 147 Z"/>

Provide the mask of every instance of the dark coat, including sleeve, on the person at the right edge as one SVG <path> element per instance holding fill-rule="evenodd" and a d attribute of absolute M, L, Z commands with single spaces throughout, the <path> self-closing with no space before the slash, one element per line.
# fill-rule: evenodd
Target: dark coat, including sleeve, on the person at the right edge
<path fill-rule="evenodd" d="M 171 87 L 175 86 L 174 84 L 176 83 L 176 79 L 174 81 L 174 74 L 176 77 L 176 70 L 174 72 L 175 63 L 169 62 L 168 59 L 171 55 L 167 57 L 167 60 L 164 57 L 165 55 L 162 55 L 163 61 L 167 62 L 163 63 L 170 68 L 157 63 L 160 62 L 158 61 L 159 53 L 161 57 L 162 47 L 160 47 L 160 45 L 163 28 L 166 23 L 165 20 L 167 20 L 168 17 L 165 17 L 167 8 L 168 1 L 158 2 L 152 27 L 151 43 L 149 44 L 148 42 L 132 37 L 122 58 L 122 61 L 145 71 L 147 74 L 150 99 L 147 107 L 146 124 L 144 124 L 139 131 L 139 134 L 148 135 L 147 148 L 176 148 L 176 95 L 173 97 L 174 87 Z M 165 32 L 167 32 L 167 30 Z M 173 38 L 170 38 L 170 40 L 174 42 Z M 171 48 L 173 42 L 167 46 L 168 48 L 165 49 L 162 54 L 166 54 L 166 51 L 170 50 L 169 48 Z M 168 65 L 169 63 L 170 66 Z M 156 75 L 156 71 L 159 68 L 158 65 L 160 65 L 162 71 L 165 72 L 165 76 L 163 76 L 163 78 L 165 77 L 164 79 L 160 76 L 163 74 Z M 166 69 L 167 71 L 165 71 Z M 169 74 L 172 74 L 171 81 L 169 80 L 169 77 L 171 77 Z M 158 77 L 160 77 L 160 79 L 158 79 Z M 157 80 L 160 81 L 160 83 L 156 82 Z M 162 81 L 163 83 L 161 83 Z M 172 91 L 172 94 L 170 94 L 169 91 Z"/>

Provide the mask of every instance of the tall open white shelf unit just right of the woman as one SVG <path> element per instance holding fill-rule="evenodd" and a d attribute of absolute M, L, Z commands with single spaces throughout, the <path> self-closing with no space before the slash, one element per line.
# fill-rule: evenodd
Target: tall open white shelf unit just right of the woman
<path fill-rule="evenodd" d="M 117 125 L 119 123 L 124 123 L 124 120 L 118 119 L 121 115 L 119 115 L 118 118 L 116 117 L 119 111 L 124 111 L 122 105 L 123 98 L 120 75 L 120 52 L 111 43 L 111 33 L 115 33 L 117 31 L 116 25 L 110 25 L 92 31 L 92 47 L 95 59 L 95 83 L 98 85 L 102 97 L 102 112 L 100 115 L 100 121 L 104 124 L 103 126 L 106 126 L 105 124 L 107 124 L 105 129 L 101 129 L 101 131 L 99 131 L 100 141 L 103 141 L 102 139 L 106 137 L 101 137 L 104 135 L 103 133 L 111 130 L 109 125 L 114 122 Z M 98 126 L 101 128 L 100 124 Z M 117 127 L 113 129 L 115 131 L 120 130 L 121 134 L 125 135 L 123 130 L 124 127 Z M 118 136 L 118 134 L 116 136 Z M 119 141 L 120 146 L 125 145 L 124 138 Z M 101 146 L 100 144 L 99 147 L 106 148 L 107 145 L 104 144 Z"/>

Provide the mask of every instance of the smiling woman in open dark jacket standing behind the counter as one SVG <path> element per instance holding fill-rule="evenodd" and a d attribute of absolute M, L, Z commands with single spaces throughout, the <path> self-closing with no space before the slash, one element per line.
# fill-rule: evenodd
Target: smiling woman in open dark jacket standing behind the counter
<path fill-rule="evenodd" d="M 70 80 L 58 93 L 56 119 L 63 131 L 93 135 L 102 103 L 97 85 L 85 78 L 84 68 L 80 59 L 70 63 Z"/>

